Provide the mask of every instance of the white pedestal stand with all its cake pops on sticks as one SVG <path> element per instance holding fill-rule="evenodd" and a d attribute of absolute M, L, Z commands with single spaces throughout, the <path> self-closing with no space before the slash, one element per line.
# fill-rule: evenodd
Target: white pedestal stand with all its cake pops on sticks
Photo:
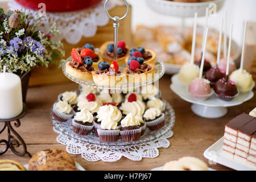
<path fill-rule="evenodd" d="M 193 104 L 191 109 L 195 114 L 205 118 L 222 117 L 228 111 L 226 107 L 240 105 L 254 96 L 252 89 L 255 83 L 251 75 L 243 69 L 246 23 L 243 32 L 241 65 L 240 69 L 236 70 L 236 66 L 232 63 L 233 60 L 230 59 L 233 26 L 230 28 L 227 58 L 225 58 L 224 53 L 224 58 L 220 59 L 222 22 L 223 19 L 220 26 L 216 67 L 212 68 L 204 59 L 208 28 L 206 29 L 203 44 L 202 59 L 194 62 L 193 56 L 195 53 L 196 38 L 196 23 L 194 23 L 191 61 L 183 65 L 179 73 L 171 78 L 171 89 L 180 96 L 180 98 Z M 198 65 L 200 65 L 200 68 Z"/>

